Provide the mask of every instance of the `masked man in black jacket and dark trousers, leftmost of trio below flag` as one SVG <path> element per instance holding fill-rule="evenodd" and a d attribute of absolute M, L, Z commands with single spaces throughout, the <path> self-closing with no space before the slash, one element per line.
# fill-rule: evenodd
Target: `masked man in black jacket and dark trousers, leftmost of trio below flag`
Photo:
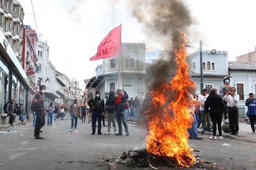
<path fill-rule="evenodd" d="M 91 127 L 93 129 L 93 132 L 91 133 L 91 135 L 95 135 L 97 120 L 98 120 L 98 135 L 103 135 L 103 133 L 101 133 L 101 119 L 104 115 L 105 104 L 99 91 L 96 91 L 95 96 L 89 99 L 88 105 L 91 108 L 91 112 L 92 112 Z"/>

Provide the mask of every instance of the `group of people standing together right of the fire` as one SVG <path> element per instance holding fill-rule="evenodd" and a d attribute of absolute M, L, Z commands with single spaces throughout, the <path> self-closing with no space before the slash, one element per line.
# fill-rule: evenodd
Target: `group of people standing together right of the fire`
<path fill-rule="evenodd" d="M 221 125 L 223 115 L 224 121 L 229 123 L 230 135 L 238 135 L 239 132 L 239 94 L 237 94 L 235 87 L 229 86 L 229 83 L 230 79 L 225 77 L 223 84 L 219 88 L 219 94 L 217 94 L 216 88 L 211 88 L 209 94 L 207 94 L 205 88 L 202 89 L 201 95 L 198 92 L 194 94 L 194 99 L 197 101 L 197 107 L 194 110 L 196 113 L 194 122 L 198 122 L 198 128 L 201 123 L 202 133 L 206 132 L 206 130 L 213 132 L 213 136 L 209 136 L 209 139 L 212 140 L 217 139 L 217 130 L 219 132 L 219 140 L 224 139 Z M 248 106 L 247 115 L 249 116 L 252 134 L 255 134 L 256 99 L 254 98 L 254 92 L 249 93 L 249 98 L 246 99 L 245 105 Z M 195 126 L 193 124 L 191 129 Z M 191 129 L 189 130 L 190 138 L 201 139 L 197 132 L 191 133 Z"/>

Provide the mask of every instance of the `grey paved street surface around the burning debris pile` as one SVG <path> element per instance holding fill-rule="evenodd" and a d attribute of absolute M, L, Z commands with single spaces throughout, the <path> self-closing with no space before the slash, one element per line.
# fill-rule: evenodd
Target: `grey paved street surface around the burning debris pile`
<path fill-rule="evenodd" d="M 109 169 L 108 164 L 124 151 L 145 148 L 146 130 L 134 123 L 129 123 L 130 136 L 91 135 L 91 124 L 81 120 L 77 133 L 66 133 L 68 128 L 70 120 L 58 119 L 52 126 L 42 128 L 45 139 L 35 140 L 32 120 L 15 128 L 2 127 L 0 169 Z M 103 127 L 102 132 L 106 130 L 107 127 Z M 200 135 L 203 140 L 188 140 L 200 163 L 184 169 L 255 169 L 256 135 L 250 134 L 250 125 L 240 122 L 239 135 L 224 133 L 224 140 L 209 140 L 210 132 Z M 137 169 L 122 164 L 116 166 L 117 169 Z M 174 168 L 160 166 L 158 169 Z"/>

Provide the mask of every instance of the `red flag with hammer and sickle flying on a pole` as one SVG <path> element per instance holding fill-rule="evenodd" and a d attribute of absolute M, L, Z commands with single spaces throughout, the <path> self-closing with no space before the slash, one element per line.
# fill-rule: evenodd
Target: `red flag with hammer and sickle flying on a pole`
<path fill-rule="evenodd" d="M 112 29 L 99 43 L 96 55 L 89 58 L 89 61 L 110 58 L 121 54 L 121 25 Z"/>

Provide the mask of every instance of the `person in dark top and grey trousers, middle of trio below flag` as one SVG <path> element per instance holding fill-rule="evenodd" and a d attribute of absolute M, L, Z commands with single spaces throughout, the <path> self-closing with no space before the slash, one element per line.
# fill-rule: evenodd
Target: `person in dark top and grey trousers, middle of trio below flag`
<path fill-rule="evenodd" d="M 107 111 L 107 132 L 104 133 L 105 135 L 110 135 L 111 130 L 111 122 L 114 127 L 114 134 L 117 133 L 117 127 L 116 127 L 116 114 L 115 114 L 115 92 L 109 91 L 109 96 L 107 96 L 106 100 L 106 111 Z"/>

